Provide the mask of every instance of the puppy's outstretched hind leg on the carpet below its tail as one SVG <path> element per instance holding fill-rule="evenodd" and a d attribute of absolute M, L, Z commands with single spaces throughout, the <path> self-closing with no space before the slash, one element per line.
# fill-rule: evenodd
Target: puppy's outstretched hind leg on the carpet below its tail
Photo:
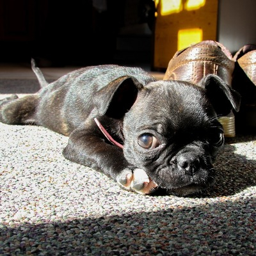
<path fill-rule="evenodd" d="M 28 95 L 17 99 L 12 95 L 0 100 L 0 122 L 4 124 L 35 124 L 38 95 Z"/>

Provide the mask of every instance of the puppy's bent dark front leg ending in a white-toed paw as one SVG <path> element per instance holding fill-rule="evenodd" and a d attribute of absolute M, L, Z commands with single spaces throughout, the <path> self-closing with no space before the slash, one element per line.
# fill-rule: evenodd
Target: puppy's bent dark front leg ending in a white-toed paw
<path fill-rule="evenodd" d="M 144 170 L 127 163 L 121 148 L 106 142 L 98 127 L 74 130 L 63 155 L 70 161 L 103 172 L 123 189 L 145 195 L 157 187 Z"/>

